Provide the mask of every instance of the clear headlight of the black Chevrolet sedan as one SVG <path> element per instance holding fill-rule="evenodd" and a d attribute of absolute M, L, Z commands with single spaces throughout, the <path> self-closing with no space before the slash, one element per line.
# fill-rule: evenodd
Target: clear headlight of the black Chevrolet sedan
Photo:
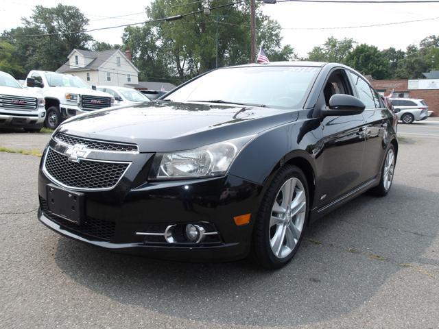
<path fill-rule="evenodd" d="M 188 151 L 156 154 L 150 178 L 172 180 L 225 175 L 239 151 L 253 137 L 230 139 Z"/>

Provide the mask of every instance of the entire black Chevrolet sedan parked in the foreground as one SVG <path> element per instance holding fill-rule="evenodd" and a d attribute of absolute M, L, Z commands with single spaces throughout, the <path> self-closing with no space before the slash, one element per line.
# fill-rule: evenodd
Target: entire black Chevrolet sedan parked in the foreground
<path fill-rule="evenodd" d="M 252 254 L 278 268 L 311 221 L 365 191 L 388 193 L 394 127 L 368 81 L 342 64 L 216 69 L 165 99 L 62 123 L 41 160 L 38 218 L 113 251 Z"/>

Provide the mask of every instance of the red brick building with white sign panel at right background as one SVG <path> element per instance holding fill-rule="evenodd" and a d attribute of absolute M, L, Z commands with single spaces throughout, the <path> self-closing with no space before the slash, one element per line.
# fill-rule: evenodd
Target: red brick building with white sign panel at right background
<path fill-rule="evenodd" d="M 423 80 L 370 80 L 370 83 L 381 95 L 394 97 L 425 99 L 429 111 L 434 117 L 439 117 L 439 79 Z"/>

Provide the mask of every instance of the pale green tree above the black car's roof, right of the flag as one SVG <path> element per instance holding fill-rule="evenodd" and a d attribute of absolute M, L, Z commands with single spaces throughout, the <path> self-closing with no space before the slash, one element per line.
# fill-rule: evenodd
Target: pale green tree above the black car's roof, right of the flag
<path fill-rule="evenodd" d="M 346 63 L 346 58 L 351 53 L 355 41 L 351 38 L 338 40 L 329 37 L 323 45 L 314 47 L 308 53 L 308 60 L 313 62 L 336 62 Z"/>

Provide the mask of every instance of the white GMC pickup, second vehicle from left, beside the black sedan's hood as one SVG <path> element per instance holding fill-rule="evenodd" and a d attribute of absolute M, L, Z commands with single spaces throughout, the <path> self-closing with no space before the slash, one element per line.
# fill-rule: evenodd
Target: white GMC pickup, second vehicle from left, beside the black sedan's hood
<path fill-rule="evenodd" d="M 45 126 L 51 129 L 76 114 L 108 108 L 115 103 L 110 94 L 93 90 L 79 77 L 64 73 L 30 71 L 26 86 L 45 99 Z"/>

